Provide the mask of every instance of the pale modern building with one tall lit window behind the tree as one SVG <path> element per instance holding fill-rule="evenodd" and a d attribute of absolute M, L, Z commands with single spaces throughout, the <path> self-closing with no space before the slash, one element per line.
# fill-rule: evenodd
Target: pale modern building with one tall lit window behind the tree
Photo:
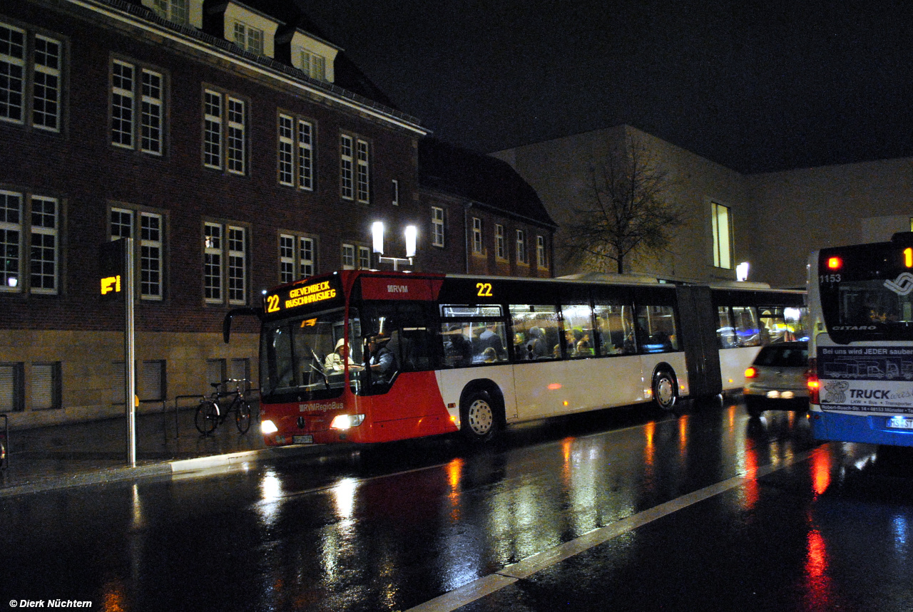
<path fill-rule="evenodd" d="M 635 257 L 626 271 L 699 281 L 749 279 L 779 287 L 805 283 L 814 249 L 887 240 L 913 217 L 913 160 L 868 161 L 745 175 L 630 126 L 593 130 L 492 155 L 508 161 L 559 224 L 556 275 L 578 272 L 561 257 L 573 210 L 592 190 L 590 169 L 612 142 L 633 138 L 668 173 L 671 197 L 687 207 L 668 254 Z"/>

